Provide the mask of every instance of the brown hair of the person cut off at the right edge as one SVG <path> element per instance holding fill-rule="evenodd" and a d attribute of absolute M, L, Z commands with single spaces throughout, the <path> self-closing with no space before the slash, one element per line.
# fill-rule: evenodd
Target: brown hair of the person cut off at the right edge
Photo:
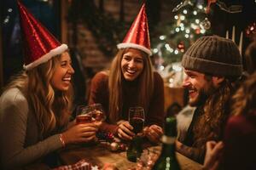
<path fill-rule="evenodd" d="M 249 114 L 256 110 L 256 72 L 241 84 L 232 97 L 232 115 Z"/>

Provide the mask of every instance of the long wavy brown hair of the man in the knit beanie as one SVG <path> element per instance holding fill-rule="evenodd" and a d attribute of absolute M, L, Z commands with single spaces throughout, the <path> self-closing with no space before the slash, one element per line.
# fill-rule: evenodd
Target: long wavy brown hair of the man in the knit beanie
<path fill-rule="evenodd" d="M 206 76 L 209 81 L 210 76 Z M 207 140 L 222 138 L 224 124 L 230 115 L 230 98 L 234 94 L 236 83 L 234 80 L 224 79 L 218 88 L 209 95 L 203 105 L 203 114 L 199 116 L 193 132 L 197 148 L 205 148 Z"/>

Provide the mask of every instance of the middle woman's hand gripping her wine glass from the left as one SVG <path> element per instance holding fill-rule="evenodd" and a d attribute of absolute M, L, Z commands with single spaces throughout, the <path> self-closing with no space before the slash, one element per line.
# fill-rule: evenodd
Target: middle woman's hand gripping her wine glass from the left
<path fill-rule="evenodd" d="M 132 132 L 133 127 L 127 121 L 118 122 L 118 135 L 120 139 L 131 140 L 135 133 Z"/>

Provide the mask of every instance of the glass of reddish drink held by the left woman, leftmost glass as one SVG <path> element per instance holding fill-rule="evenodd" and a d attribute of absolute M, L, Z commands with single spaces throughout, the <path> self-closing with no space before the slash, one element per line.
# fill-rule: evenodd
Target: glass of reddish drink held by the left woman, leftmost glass
<path fill-rule="evenodd" d="M 94 120 L 90 116 L 90 108 L 85 105 L 78 105 L 76 109 L 76 123 L 90 123 Z"/>

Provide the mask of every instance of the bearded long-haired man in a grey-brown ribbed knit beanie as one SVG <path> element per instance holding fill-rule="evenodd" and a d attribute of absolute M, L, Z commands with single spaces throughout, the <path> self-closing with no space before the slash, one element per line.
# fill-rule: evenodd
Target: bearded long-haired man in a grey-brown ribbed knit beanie
<path fill-rule="evenodd" d="M 242 72 L 241 55 L 236 43 L 218 36 L 201 37 L 183 55 L 189 90 L 189 105 L 196 106 L 192 122 L 177 151 L 203 163 L 208 140 L 223 138 L 230 114 L 230 97 Z"/>

